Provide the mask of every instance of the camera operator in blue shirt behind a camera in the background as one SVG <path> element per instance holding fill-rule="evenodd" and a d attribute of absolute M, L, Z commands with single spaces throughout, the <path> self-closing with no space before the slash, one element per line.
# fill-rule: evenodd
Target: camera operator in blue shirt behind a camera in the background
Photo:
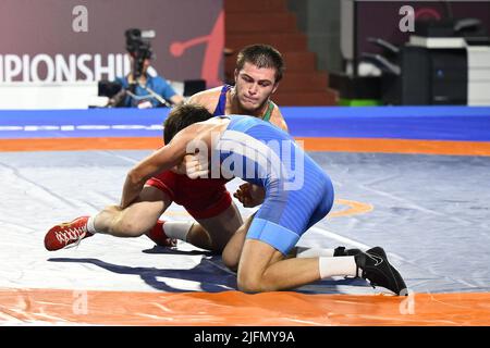
<path fill-rule="evenodd" d="M 125 36 L 131 72 L 127 76 L 115 79 L 122 89 L 109 103 L 113 107 L 140 109 L 183 103 L 184 97 L 177 95 L 167 79 L 148 73 L 154 53 L 149 41 L 142 37 L 142 32 L 127 29 Z"/>

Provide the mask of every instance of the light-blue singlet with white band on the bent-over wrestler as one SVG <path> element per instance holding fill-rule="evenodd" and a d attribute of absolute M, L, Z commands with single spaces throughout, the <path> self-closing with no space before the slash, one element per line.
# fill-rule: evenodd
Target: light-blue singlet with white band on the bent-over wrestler
<path fill-rule="evenodd" d="M 331 179 L 282 129 L 252 116 L 221 117 L 231 120 L 215 148 L 222 175 L 241 177 L 266 189 L 247 238 L 287 254 L 299 237 L 331 210 Z"/>

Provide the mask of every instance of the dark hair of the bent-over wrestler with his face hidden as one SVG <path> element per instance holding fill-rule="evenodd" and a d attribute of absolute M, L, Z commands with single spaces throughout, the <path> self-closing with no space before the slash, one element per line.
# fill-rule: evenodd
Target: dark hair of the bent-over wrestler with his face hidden
<path fill-rule="evenodd" d="M 185 127 L 209 120 L 212 114 L 205 107 L 198 104 L 181 104 L 170 111 L 169 116 L 163 123 L 163 141 L 169 144 L 175 134 Z"/>

